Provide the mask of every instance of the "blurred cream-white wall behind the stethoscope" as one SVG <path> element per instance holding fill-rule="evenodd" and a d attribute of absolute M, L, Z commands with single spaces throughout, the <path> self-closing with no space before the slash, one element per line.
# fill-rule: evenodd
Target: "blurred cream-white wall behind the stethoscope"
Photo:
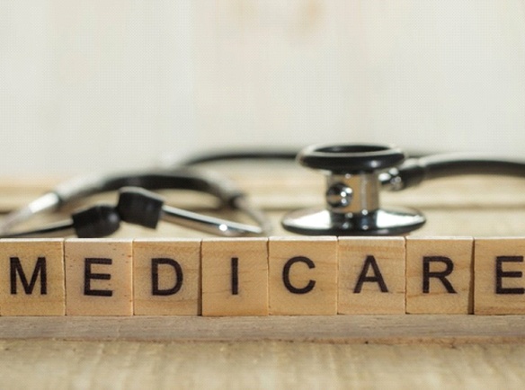
<path fill-rule="evenodd" d="M 0 174 L 215 147 L 522 155 L 524 0 L 0 0 Z"/>

